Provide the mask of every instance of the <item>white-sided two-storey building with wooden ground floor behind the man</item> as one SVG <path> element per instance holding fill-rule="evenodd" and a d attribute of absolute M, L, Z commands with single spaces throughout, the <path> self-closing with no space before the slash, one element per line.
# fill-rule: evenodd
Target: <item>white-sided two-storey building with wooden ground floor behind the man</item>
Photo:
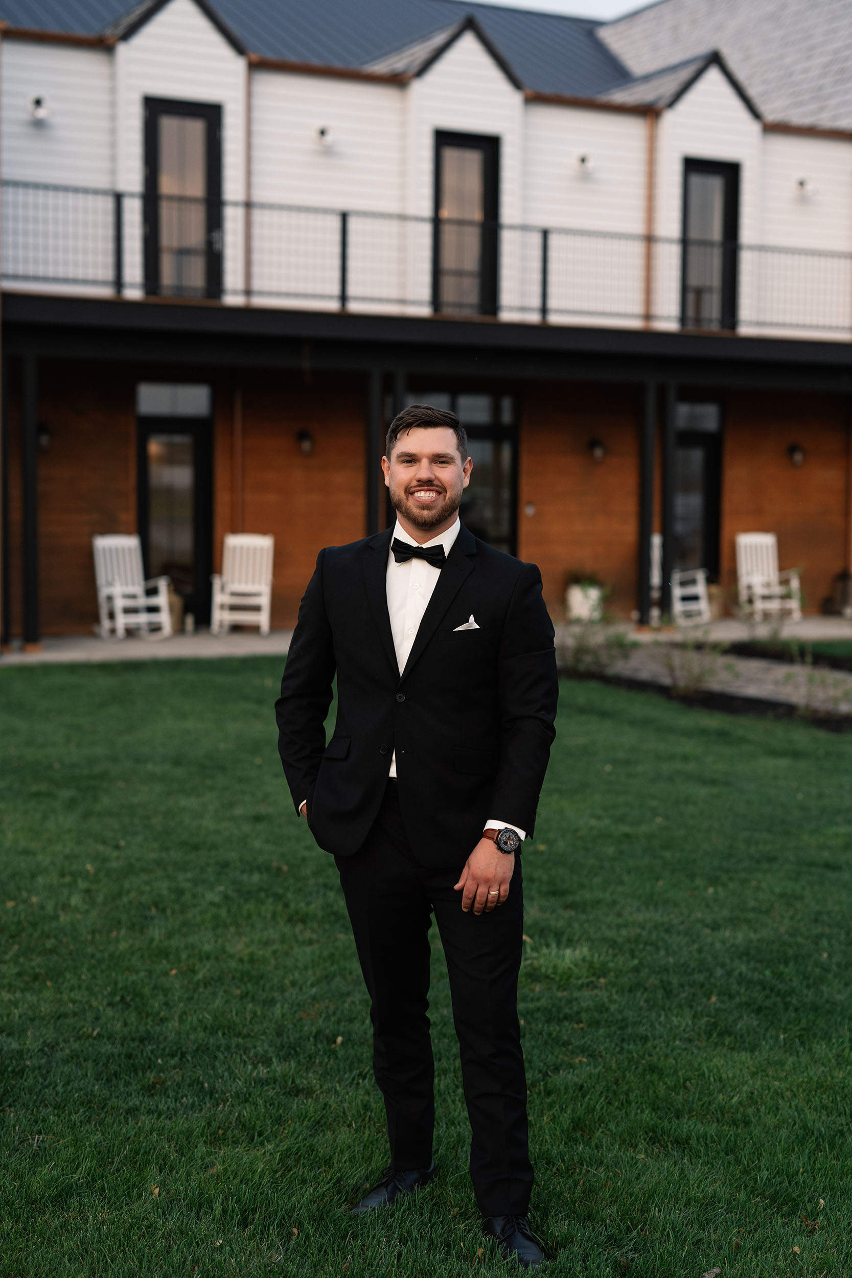
<path fill-rule="evenodd" d="M 852 553 L 852 8 L 0 0 L 3 642 L 89 629 L 139 532 L 203 620 L 226 532 L 384 525 L 406 400 L 464 518 L 646 617 L 737 532 L 811 608 Z M 828 602 L 826 602 L 828 606 Z"/>

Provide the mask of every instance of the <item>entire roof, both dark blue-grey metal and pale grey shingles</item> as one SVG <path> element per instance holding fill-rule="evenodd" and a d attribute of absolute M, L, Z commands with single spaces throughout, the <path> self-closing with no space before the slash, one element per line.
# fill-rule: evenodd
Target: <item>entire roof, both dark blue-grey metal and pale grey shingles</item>
<path fill-rule="evenodd" d="M 100 36 L 162 0 L 0 0 L 10 27 Z M 466 18 L 529 89 L 674 100 L 715 50 L 766 120 L 852 132 L 852 0 L 657 0 L 611 23 L 465 0 L 202 0 L 261 58 L 411 69 Z M 699 68 L 700 70 L 700 68 Z"/>

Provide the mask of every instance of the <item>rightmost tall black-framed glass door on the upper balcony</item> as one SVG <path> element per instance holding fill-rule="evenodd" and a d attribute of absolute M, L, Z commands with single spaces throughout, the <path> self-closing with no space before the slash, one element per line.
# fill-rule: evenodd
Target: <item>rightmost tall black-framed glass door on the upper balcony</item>
<path fill-rule="evenodd" d="M 685 328 L 737 327 L 740 165 L 683 161 Z"/>

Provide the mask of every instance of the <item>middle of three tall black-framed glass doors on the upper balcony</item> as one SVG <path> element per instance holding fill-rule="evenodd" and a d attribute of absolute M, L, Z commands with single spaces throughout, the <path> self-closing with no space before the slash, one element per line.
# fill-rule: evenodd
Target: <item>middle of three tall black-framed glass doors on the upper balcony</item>
<path fill-rule="evenodd" d="M 433 307 L 497 314 L 499 138 L 434 135 Z"/>

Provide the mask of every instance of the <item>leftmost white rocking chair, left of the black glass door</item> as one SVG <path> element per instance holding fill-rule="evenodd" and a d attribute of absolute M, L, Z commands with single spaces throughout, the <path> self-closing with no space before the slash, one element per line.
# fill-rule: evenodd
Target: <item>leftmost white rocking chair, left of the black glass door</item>
<path fill-rule="evenodd" d="M 171 635 L 169 578 L 144 580 L 139 538 L 125 534 L 93 537 L 95 581 L 102 639 L 124 639 L 139 630 L 157 639 Z"/>

